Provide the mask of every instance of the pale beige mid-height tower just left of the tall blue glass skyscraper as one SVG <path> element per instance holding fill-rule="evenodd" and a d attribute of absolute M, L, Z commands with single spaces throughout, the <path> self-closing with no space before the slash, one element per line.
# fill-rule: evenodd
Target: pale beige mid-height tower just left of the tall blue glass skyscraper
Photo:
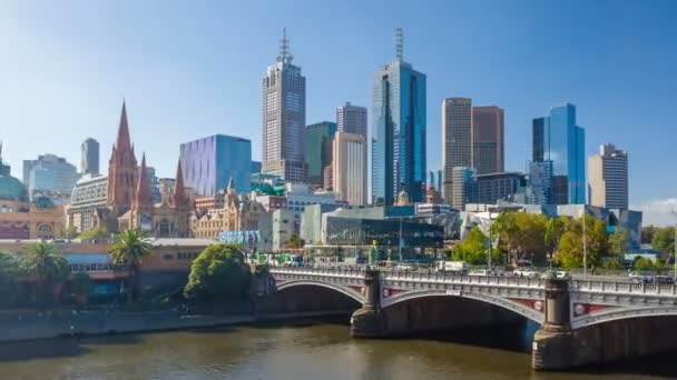
<path fill-rule="evenodd" d="M 366 204 L 366 137 L 336 132 L 332 162 L 332 184 L 338 200 Z"/>

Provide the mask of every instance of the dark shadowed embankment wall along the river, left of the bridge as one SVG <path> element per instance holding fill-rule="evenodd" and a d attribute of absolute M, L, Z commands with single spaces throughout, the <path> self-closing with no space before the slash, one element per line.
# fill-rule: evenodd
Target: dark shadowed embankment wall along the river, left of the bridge
<path fill-rule="evenodd" d="M 352 310 L 257 314 L 185 314 L 174 310 L 146 312 L 80 311 L 69 316 L 2 316 L 0 343 L 71 336 L 104 336 L 190 330 L 300 318 L 350 316 Z"/>

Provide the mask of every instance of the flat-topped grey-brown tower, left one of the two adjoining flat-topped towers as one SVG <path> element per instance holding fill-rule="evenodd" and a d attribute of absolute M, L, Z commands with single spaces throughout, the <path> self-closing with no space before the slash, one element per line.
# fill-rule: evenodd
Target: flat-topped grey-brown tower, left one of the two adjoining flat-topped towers
<path fill-rule="evenodd" d="M 472 100 L 448 98 L 442 101 L 442 193 L 453 199 L 453 168 L 472 167 Z"/>

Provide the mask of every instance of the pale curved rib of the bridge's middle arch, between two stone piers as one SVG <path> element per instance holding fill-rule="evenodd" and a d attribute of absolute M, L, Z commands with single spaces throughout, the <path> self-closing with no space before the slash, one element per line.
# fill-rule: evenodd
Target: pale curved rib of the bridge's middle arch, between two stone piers
<path fill-rule="evenodd" d="M 392 306 L 395 306 L 395 304 L 399 304 L 402 302 L 411 301 L 411 300 L 425 299 L 425 298 L 443 298 L 443 297 L 470 299 L 470 300 L 475 300 L 475 301 L 480 301 L 480 302 L 484 302 L 484 303 L 490 303 L 490 304 L 493 304 L 501 309 L 512 311 L 512 312 L 514 312 L 521 317 L 524 317 L 526 319 L 534 321 L 539 324 L 542 324 L 543 319 L 544 319 L 544 314 L 542 312 L 534 310 L 532 308 L 529 308 L 519 302 L 512 301 L 510 299 L 502 298 L 502 297 L 496 297 L 496 296 L 491 296 L 491 294 L 484 294 L 484 293 L 467 292 L 467 291 L 460 292 L 457 294 L 450 294 L 444 290 L 408 291 L 402 294 L 396 294 L 396 296 L 382 300 L 381 308 L 387 309 L 389 307 L 392 307 Z"/>

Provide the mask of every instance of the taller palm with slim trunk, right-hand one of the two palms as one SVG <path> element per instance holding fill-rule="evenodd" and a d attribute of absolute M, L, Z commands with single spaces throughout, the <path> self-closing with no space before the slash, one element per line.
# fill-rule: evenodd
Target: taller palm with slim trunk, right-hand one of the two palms
<path fill-rule="evenodd" d="M 127 230 L 118 237 L 118 240 L 108 249 L 112 263 L 127 268 L 128 274 L 128 300 L 138 299 L 139 267 L 144 258 L 150 254 L 150 244 L 144 241 L 140 230 Z"/>

